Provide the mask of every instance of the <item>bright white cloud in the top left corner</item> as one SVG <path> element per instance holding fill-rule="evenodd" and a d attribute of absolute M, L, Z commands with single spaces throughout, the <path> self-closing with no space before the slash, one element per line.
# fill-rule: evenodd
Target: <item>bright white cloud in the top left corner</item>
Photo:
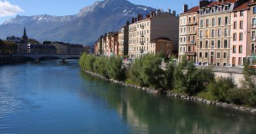
<path fill-rule="evenodd" d="M 11 5 L 9 1 L 0 1 L 0 17 L 15 16 L 24 12 L 18 5 Z"/>

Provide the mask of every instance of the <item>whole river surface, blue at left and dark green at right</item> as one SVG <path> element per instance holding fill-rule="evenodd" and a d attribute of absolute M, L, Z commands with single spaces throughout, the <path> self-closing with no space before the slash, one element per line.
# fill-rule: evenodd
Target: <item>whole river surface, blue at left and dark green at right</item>
<path fill-rule="evenodd" d="M 256 133 L 256 116 L 148 94 L 53 60 L 0 66 L 0 133 Z"/>

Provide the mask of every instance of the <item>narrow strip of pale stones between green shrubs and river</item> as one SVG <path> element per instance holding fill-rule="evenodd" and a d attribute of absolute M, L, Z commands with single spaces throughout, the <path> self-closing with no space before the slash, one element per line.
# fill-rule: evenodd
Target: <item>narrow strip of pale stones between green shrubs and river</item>
<path fill-rule="evenodd" d="M 172 96 L 172 97 L 175 97 L 175 98 L 181 98 L 183 100 L 201 102 L 201 103 L 205 103 L 206 105 L 214 105 L 214 106 L 222 107 L 222 108 L 226 108 L 226 109 L 234 109 L 236 111 L 249 112 L 249 113 L 256 114 L 256 108 L 252 108 L 252 107 L 244 107 L 244 106 L 241 106 L 241 105 L 222 103 L 222 102 L 219 102 L 219 101 L 207 100 L 205 98 L 199 98 L 197 96 L 189 96 L 189 95 L 186 95 L 186 94 L 176 94 L 176 93 L 173 93 L 171 91 L 163 92 L 163 90 L 159 90 L 159 89 L 157 90 L 155 88 L 135 86 L 133 84 L 127 84 L 123 81 L 108 79 L 108 78 L 106 78 L 106 77 L 104 77 L 100 74 L 96 74 L 96 73 L 90 72 L 88 70 L 83 69 L 83 71 L 86 72 L 87 74 L 92 75 L 92 76 L 96 76 L 97 78 L 101 78 L 102 80 L 113 82 L 115 84 L 120 84 L 122 86 L 128 86 L 128 87 L 131 87 L 131 88 L 136 88 L 138 90 L 143 90 L 143 91 L 146 91 L 148 93 L 162 94 L 162 95 L 166 95 L 166 96 Z"/>

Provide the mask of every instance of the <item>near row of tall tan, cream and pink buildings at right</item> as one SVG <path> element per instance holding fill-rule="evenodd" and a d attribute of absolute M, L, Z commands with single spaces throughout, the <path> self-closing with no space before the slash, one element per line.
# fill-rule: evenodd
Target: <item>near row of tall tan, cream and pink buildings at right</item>
<path fill-rule="evenodd" d="M 179 17 L 182 56 L 214 66 L 243 65 L 256 58 L 256 0 L 201 0 Z"/>

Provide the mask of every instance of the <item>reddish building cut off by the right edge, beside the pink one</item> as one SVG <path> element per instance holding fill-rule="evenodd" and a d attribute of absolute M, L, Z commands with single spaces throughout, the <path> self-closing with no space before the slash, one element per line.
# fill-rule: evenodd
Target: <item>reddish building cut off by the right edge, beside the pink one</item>
<path fill-rule="evenodd" d="M 251 60 L 251 64 L 256 64 L 256 0 L 250 0 L 248 7 L 247 57 Z"/>

